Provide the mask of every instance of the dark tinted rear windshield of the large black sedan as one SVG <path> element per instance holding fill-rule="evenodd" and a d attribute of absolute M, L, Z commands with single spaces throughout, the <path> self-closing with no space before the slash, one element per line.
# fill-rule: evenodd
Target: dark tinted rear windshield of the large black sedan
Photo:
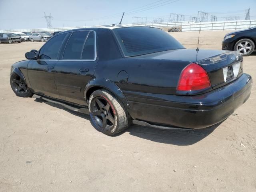
<path fill-rule="evenodd" d="M 167 32 L 150 27 L 125 27 L 113 30 L 126 57 L 184 49 Z"/>

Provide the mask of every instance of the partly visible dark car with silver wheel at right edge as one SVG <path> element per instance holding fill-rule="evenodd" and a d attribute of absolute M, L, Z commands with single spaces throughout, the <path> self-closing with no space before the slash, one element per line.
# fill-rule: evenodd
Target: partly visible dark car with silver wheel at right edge
<path fill-rule="evenodd" d="M 248 56 L 255 50 L 256 27 L 246 30 L 231 32 L 225 35 L 222 50 L 234 50 L 242 56 Z"/>

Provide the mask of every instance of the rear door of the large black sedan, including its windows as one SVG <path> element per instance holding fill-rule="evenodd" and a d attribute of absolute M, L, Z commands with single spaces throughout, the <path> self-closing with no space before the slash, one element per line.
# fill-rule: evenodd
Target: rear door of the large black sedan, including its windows
<path fill-rule="evenodd" d="M 96 58 L 96 32 L 72 32 L 55 66 L 54 79 L 62 100 L 85 105 L 84 88 L 94 75 Z"/>

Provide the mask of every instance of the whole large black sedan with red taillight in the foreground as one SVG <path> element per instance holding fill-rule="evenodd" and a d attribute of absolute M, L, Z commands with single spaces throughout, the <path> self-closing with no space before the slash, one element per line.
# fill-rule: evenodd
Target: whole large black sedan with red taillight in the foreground
<path fill-rule="evenodd" d="M 212 126 L 246 102 L 252 87 L 238 52 L 186 49 L 158 28 L 69 30 L 25 56 L 11 67 L 17 96 L 87 110 L 107 135 L 131 123 Z"/>

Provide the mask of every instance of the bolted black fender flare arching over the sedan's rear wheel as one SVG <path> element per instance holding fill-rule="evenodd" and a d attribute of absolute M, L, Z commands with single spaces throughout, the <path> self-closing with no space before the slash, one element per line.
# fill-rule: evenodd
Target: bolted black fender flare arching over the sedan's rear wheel
<path fill-rule="evenodd" d="M 126 97 L 124 96 L 122 90 L 116 84 L 114 84 L 114 82 L 105 78 L 93 78 L 86 84 L 84 90 L 84 100 L 87 102 L 87 104 L 90 97 L 87 93 L 91 88 L 94 87 L 102 87 L 114 93 L 122 101 L 125 108 L 130 109 L 129 103 Z"/>

